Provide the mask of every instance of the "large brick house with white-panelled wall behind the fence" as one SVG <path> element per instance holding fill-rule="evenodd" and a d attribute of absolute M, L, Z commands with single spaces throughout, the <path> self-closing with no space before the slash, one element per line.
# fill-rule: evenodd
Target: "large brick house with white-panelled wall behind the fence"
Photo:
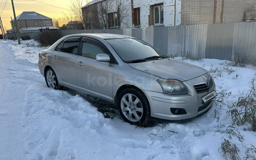
<path fill-rule="evenodd" d="M 256 0 L 93 0 L 82 13 L 88 29 L 111 29 L 243 22 L 255 8 Z"/>

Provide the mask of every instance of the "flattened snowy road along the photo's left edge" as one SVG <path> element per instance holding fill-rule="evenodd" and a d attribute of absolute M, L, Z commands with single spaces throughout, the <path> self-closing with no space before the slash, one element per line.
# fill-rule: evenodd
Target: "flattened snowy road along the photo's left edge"
<path fill-rule="evenodd" d="M 10 74 L 22 74 L 21 66 L 15 64 L 14 55 L 0 43 L 0 70 L 1 70 L 1 110 L 6 114 L 0 116 L 0 159 L 2 160 L 23 160 L 27 159 L 24 149 L 23 128 L 22 128 L 22 109 L 24 92 L 27 83 L 17 81 Z M 10 67 L 17 70 L 10 73 Z M 9 69 L 9 70 L 8 70 Z"/>

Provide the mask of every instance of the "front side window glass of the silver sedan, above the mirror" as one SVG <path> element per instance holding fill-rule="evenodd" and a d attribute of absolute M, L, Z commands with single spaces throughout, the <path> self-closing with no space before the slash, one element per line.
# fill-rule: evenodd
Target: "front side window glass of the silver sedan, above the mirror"
<path fill-rule="evenodd" d="M 96 55 L 101 53 L 105 53 L 105 52 L 101 50 L 100 47 L 91 43 L 83 42 L 83 47 L 82 47 L 83 57 L 96 59 Z"/>

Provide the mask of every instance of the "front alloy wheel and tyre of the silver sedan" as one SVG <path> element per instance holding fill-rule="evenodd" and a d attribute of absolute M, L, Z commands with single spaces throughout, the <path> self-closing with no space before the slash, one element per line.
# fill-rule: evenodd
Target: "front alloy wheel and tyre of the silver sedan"
<path fill-rule="evenodd" d="M 150 121 L 150 104 L 145 94 L 136 88 L 127 88 L 118 96 L 120 115 L 125 122 L 144 126 Z"/>

